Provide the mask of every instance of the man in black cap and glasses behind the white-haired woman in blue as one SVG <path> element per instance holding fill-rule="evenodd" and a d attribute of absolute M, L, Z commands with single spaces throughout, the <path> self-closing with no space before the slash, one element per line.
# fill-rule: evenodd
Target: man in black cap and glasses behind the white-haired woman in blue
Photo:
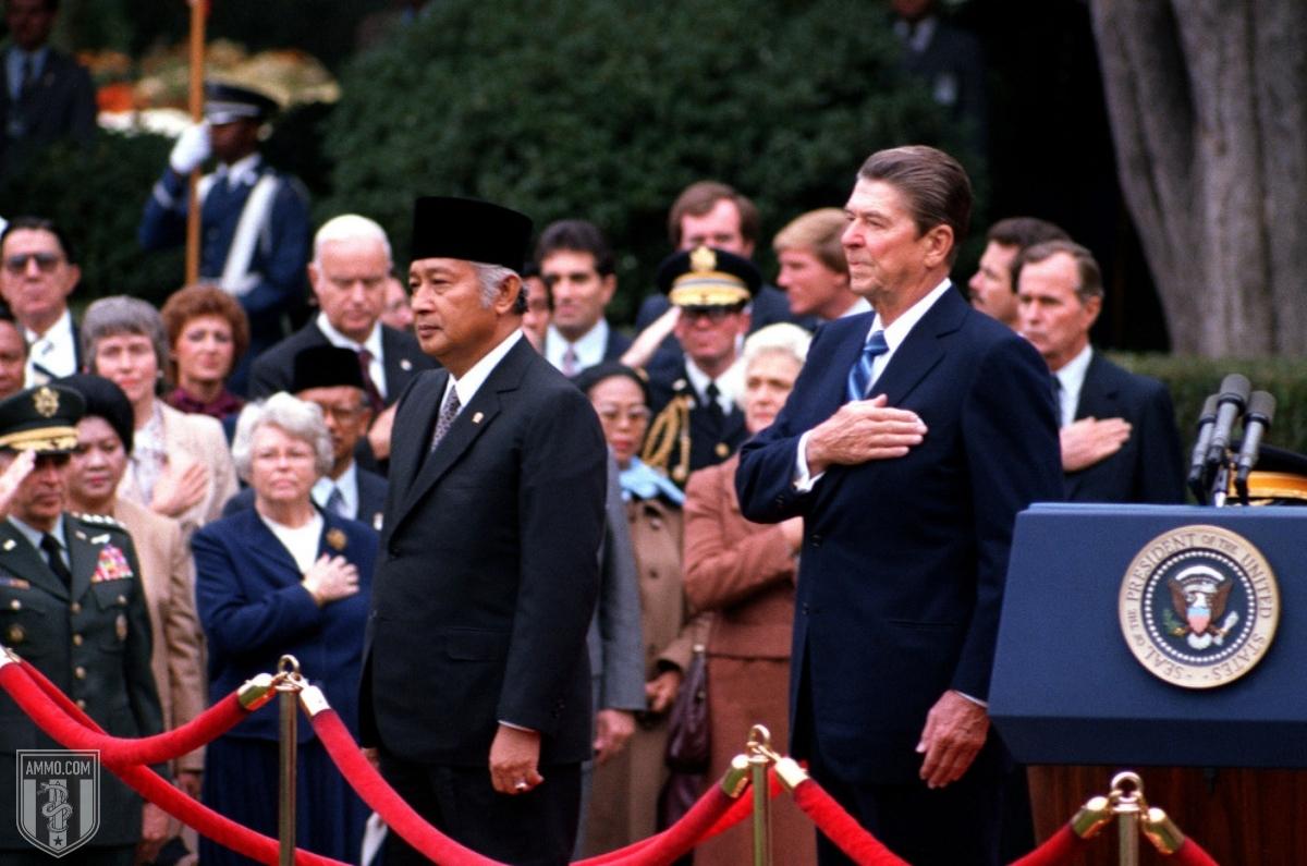
<path fill-rule="evenodd" d="M 311 345 L 295 355 L 291 392 L 323 412 L 331 433 L 332 467 L 310 492 L 314 502 L 332 514 L 362 521 L 378 532 L 386 511 L 386 479 L 354 459 L 354 447 L 372 417 L 363 389 L 358 356 L 335 345 Z M 222 517 L 254 508 L 254 489 L 227 500 Z"/>

